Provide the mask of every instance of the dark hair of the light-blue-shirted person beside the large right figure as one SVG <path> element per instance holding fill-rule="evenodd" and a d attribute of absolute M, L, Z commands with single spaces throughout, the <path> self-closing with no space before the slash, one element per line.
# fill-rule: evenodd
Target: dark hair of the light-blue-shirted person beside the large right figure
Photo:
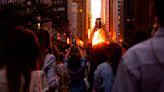
<path fill-rule="evenodd" d="M 116 75 L 118 64 L 122 56 L 122 48 L 117 43 L 110 43 L 108 47 L 108 61 L 111 62 L 112 70 L 114 75 Z"/>

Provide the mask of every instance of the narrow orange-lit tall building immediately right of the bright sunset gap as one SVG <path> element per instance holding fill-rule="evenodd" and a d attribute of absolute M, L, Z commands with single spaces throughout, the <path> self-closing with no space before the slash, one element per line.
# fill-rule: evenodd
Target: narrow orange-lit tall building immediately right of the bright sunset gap
<path fill-rule="evenodd" d="M 110 35 L 114 42 L 122 41 L 124 35 L 124 17 L 123 0 L 110 0 Z"/>

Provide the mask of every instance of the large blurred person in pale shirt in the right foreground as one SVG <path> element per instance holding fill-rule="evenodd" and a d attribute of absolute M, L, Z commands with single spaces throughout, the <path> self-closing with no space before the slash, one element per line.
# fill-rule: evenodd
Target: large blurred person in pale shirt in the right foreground
<path fill-rule="evenodd" d="M 164 92 L 164 0 L 154 2 L 160 27 L 122 57 L 112 92 Z"/>

